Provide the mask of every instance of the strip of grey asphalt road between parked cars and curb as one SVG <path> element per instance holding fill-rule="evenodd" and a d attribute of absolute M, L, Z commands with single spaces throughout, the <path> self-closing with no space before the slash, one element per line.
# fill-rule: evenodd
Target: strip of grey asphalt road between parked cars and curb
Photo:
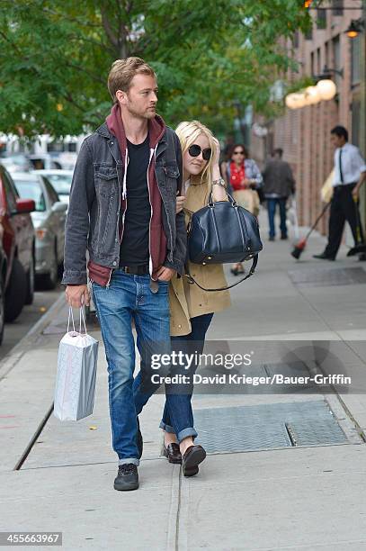
<path fill-rule="evenodd" d="M 20 316 L 12 323 L 6 323 L 4 340 L 0 347 L 0 361 L 18 344 L 18 342 L 31 330 L 31 327 L 40 320 L 40 317 L 49 310 L 58 300 L 59 294 L 65 289 L 58 284 L 53 291 L 36 291 L 34 301 L 30 306 L 24 306 Z"/>

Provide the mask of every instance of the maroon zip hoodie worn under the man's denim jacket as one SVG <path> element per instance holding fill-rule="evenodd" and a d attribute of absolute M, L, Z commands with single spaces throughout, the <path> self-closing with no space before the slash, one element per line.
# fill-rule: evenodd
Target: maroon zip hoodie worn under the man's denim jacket
<path fill-rule="evenodd" d="M 124 178 L 121 194 L 121 213 L 123 220 L 123 212 L 128 208 L 129 197 L 126 194 L 126 176 L 128 165 L 128 149 L 126 134 L 123 128 L 123 122 L 121 119 L 121 109 L 119 104 L 115 104 L 112 107 L 111 113 L 106 118 L 109 131 L 118 140 L 121 159 L 124 165 Z M 151 204 L 151 218 L 150 218 L 150 274 L 152 273 L 155 278 L 156 270 L 163 265 L 166 257 L 166 237 L 163 229 L 162 221 L 162 198 L 159 192 L 159 188 L 156 182 L 155 174 L 155 149 L 156 146 L 163 137 L 165 132 L 165 122 L 163 119 L 156 115 L 155 119 L 148 121 L 148 136 L 150 141 L 150 163 L 148 167 L 148 190 Z M 120 225 L 120 242 L 123 237 L 123 225 Z M 99 285 L 107 285 L 111 279 L 112 268 L 100 266 L 94 262 L 88 263 L 89 277 Z"/>

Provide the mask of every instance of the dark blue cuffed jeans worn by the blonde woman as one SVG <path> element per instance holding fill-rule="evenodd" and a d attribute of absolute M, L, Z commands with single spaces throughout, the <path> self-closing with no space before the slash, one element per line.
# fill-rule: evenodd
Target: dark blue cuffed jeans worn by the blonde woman
<path fill-rule="evenodd" d="M 213 313 L 209 313 L 192 318 L 192 332 L 189 335 L 172 337 L 172 349 L 177 352 L 182 350 L 184 354 L 194 354 L 195 352 L 201 354 L 212 317 Z M 197 364 L 194 364 L 194 362 L 189 370 L 184 369 L 184 366 L 179 366 L 174 374 L 193 375 L 197 367 Z M 176 392 L 179 391 L 180 393 L 174 394 L 174 388 L 176 388 Z M 160 428 L 166 432 L 175 433 L 178 442 L 182 442 L 183 438 L 190 436 L 195 438 L 197 431 L 193 426 L 193 387 L 191 387 L 191 390 L 182 390 L 179 384 L 165 384 L 165 391 L 165 407 Z"/>

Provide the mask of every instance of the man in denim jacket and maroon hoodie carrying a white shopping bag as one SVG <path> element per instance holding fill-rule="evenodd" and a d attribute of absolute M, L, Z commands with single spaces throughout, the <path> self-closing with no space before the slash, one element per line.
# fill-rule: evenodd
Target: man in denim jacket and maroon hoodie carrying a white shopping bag
<path fill-rule="evenodd" d="M 142 453 L 138 414 L 144 345 L 170 349 L 168 286 L 183 274 L 186 231 L 175 213 L 182 151 L 156 114 L 156 75 L 143 59 L 118 59 L 108 77 L 112 111 L 83 143 L 67 212 L 65 271 L 70 306 L 89 304 L 89 278 L 108 362 L 112 446 L 119 457 L 116 490 L 138 488 Z M 137 330 L 141 369 L 133 380 Z M 151 344 L 153 343 L 153 344 Z M 145 372 L 145 373 L 144 373 Z"/>

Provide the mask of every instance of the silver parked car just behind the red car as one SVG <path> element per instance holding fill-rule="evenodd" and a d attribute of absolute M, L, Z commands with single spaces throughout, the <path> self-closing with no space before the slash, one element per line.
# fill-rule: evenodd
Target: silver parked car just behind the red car
<path fill-rule="evenodd" d="M 36 205 L 31 219 L 36 233 L 36 277 L 47 289 L 58 283 L 58 267 L 64 261 L 65 221 L 67 204 L 45 176 L 14 173 L 14 182 L 21 197 L 31 197 Z"/>

